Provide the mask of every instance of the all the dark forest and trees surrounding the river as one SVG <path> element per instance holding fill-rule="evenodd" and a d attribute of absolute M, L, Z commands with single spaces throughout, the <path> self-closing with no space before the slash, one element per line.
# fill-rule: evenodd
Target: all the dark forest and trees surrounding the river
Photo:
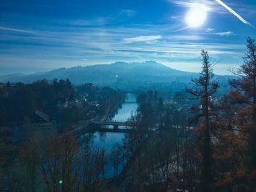
<path fill-rule="evenodd" d="M 171 98 L 139 93 L 132 126 L 111 151 L 94 147 L 91 134 L 81 140 L 34 129 L 19 145 L 1 134 L 0 191 L 255 191 L 256 42 L 247 38 L 244 64 L 225 95 L 205 50 L 201 61 L 192 87 Z M 75 123 L 103 118 L 124 99 L 120 91 L 69 80 L 1 84 L 0 97 L 3 133 L 12 123 L 33 122 L 36 110 Z M 64 107 L 74 99 L 82 107 Z M 96 111 L 86 107 L 94 104 Z M 115 177 L 105 178 L 108 163 Z"/>

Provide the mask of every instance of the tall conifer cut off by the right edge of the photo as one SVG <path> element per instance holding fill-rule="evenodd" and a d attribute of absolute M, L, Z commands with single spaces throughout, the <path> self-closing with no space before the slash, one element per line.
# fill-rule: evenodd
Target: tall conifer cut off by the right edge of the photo
<path fill-rule="evenodd" d="M 241 124 L 238 128 L 246 134 L 249 149 L 249 172 L 252 174 L 252 183 L 256 183 L 256 42 L 247 38 L 244 64 L 237 72 L 241 78 L 232 80 L 231 85 L 235 90 L 230 97 L 236 104 L 240 104 Z M 253 184 L 256 188 L 256 184 Z"/>

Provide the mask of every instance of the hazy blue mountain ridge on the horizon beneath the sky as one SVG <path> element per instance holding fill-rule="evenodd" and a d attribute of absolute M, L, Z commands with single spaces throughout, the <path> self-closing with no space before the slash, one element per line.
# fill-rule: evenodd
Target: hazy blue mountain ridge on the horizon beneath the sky
<path fill-rule="evenodd" d="M 109 84 L 117 80 L 142 80 L 148 81 L 160 77 L 181 77 L 191 76 L 192 73 L 182 72 L 172 69 L 154 61 L 146 61 L 143 63 L 128 64 L 125 62 L 116 62 L 109 65 L 94 66 L 75 66 L 72 68 L 61 68 L 50 72 L 40 72 L 35 74 L 8 74 L 0 77 L 1 82 L 33 82 L 40 79 L 52 80 L 67 79 L 75 84 L 83 84 L 85 82 L 94 82 L 97 84 Z"/>

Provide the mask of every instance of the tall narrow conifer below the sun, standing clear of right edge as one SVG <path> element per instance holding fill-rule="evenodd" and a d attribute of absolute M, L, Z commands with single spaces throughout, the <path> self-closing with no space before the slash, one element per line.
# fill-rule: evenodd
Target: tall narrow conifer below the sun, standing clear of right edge
<path fill-rule="evenodd" d="M 214 74 L 212 68 L 214 64 L 210 63 L 210 57 L 207 51 L 202 50 L 201 60 L 203 62 L 202 72 L 196 79 L 192 79 L 195 83 L 195 88 L 187 89 L 194 96 L 194 99 L 199 99 L 200 105 L 197 109 L 197 125 L 198 125 L 198 143 L 199 151 L 202 155 L 202 170 L 200 191 L 211 191 L 212 180 L 212 149 L 211 149 L 211 98 L 217 92 L 219 87 L 217 82 L 212 81 Z"/>

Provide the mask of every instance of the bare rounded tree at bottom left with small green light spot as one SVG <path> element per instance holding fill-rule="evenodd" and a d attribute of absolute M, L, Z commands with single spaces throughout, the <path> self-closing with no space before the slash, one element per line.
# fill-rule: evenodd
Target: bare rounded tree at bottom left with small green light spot
<path fill-rule="evenodd" d="M 78 188 L 79 145 L 75 137 L 56 135 L 48 138 L 45 151 L 41 153 L 42 179 L 48 191 L 75 191 Z"/>

